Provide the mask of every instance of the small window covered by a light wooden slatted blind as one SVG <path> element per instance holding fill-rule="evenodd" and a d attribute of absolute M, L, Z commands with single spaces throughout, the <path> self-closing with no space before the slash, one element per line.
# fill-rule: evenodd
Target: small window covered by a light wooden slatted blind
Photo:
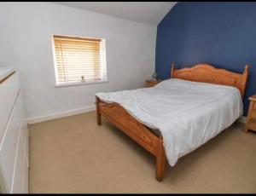
<path fill-rule="evenodd" d="M 52 37 L 56 85 L 107 81 L 105 40 Z"/>

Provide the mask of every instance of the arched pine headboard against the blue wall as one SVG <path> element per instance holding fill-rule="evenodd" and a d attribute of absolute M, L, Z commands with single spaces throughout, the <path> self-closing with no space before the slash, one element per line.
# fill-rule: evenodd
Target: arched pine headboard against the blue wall
<path fill-rule="evenodd" d="M 243 96 L 247 84 L 248 68 L 249 66 L 246 65 L 243 73 L 237 73 L 218 69 L 209 64 L 198 64 L 176 70 L 174 63 L 172 63 L 171 78 L 234 86 L 240 90 L 241 96 Z"/>

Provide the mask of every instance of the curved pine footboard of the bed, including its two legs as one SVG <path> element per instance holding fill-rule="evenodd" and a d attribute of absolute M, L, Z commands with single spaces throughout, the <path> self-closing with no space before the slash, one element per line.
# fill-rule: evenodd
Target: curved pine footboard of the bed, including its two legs
<path fill-rule="evenodd" d="M 101 124 L 101 116 L 105 117 L 125 135 L 131 137 L 156 158 L 156 180 L 162 181 L 166 166 L 166 153 L 162 136 L 154 135 L 148 128 L 133 118 L 117 103 L 106 103 L 96 96 L 97 124 Z"/>

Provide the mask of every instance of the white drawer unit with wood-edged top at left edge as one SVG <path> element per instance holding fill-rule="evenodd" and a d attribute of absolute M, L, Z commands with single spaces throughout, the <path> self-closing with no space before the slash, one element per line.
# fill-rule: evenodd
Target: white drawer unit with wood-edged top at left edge
<path fill-rule="evenodd" d="M 28 193 L 28 130 L 18 73 L 0 68 L 0 192 Z"/>

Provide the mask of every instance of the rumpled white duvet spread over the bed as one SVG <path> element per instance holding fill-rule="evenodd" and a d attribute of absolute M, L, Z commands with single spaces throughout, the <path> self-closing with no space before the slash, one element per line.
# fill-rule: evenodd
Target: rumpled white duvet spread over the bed
<path fill-rule="evenodd" d="M 153 88 L 96 95 L 102 101 L 119 103 L 141 123 L 160 130 L 172 166 L 242 114 L 238 89 L 174 78 Z"/>

